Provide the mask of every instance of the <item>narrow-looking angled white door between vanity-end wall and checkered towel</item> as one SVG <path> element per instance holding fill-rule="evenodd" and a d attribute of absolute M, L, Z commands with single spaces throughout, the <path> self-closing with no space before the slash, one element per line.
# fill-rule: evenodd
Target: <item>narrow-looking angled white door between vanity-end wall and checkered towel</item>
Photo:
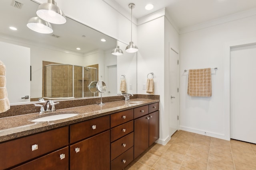
<path fill-rule="evenodd" d="M 169 129 L 170 136 L 178 130 L 179 97 L 178 97 L 178 59 L 179 55 L 173 49 L 169 51 Z"/>

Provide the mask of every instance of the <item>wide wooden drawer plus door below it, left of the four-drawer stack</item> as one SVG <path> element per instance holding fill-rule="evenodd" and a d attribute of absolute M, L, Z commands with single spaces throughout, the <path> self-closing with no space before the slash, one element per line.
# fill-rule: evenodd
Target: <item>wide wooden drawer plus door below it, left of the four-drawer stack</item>
<path fill-rule="evenodd" d="M 110 115 L 70 125 L 70 170 L 110 170 L 109 129 Z"/>

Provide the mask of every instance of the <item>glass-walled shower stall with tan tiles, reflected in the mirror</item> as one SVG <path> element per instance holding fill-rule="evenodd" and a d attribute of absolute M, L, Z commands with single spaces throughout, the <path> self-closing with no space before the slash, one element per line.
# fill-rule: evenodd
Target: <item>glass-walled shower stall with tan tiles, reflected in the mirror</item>
<path fill-rule="evenodd" d="M 83 98 L 94 96 L 88 85 L 98 81 L 97 68 L 70 64 L 44 67 L 44 98 Z"/>

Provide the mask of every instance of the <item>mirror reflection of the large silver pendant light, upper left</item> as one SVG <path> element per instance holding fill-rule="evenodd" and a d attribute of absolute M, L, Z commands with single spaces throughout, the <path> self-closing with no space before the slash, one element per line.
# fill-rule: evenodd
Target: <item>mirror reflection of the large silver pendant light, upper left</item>
<path fill-rule="evenodd" d="M 39 17 L 30 18 L 28 20 L 27 27 L 38 33 L 49 34 L 53 32 L 52 25 Z"/>

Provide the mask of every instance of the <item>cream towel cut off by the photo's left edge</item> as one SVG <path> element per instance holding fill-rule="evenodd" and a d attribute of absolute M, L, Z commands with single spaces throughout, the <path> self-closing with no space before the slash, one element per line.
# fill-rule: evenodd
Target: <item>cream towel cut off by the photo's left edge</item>
<path fill-rule="evenodd" d="M 10 109 L 10 102 L 7 97 L 5 65 L 0 61 L 0 113 Z"/>

